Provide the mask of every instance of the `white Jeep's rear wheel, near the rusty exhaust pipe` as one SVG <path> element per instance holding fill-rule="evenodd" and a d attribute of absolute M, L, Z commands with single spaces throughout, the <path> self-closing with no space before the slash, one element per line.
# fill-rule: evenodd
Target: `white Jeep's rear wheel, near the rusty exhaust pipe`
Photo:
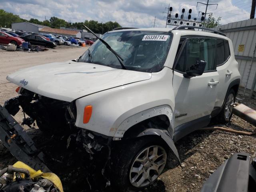
<path fill-rule="evenodd" d="M 236 100 L 236 93 L 233 89 L 230 89 L 228 92 L 225 101 L 224 106 L 220 113 L 217 116 L 218 123 L 228 123 L 233 115 L 233 104 Z"/>

